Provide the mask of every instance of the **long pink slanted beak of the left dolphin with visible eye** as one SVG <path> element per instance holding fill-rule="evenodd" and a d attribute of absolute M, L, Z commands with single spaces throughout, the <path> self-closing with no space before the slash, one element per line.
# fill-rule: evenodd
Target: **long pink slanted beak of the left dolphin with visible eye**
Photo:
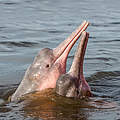
<path fill-rule="evenodd" d="M 66 40 L 64 40 L 57 48 L 53 50 L 53 54 L 55 56 L 55 63 L 64 63 L 66 64 L 67 56 L 75 44 L 75 42 L 79 39 L 82 32 L 88 27 L 89 22 L 84 21 Z M 66 70 L 65 70 L 66 71 Z M 64 71 L 64 72 L 65 72 Z"/>

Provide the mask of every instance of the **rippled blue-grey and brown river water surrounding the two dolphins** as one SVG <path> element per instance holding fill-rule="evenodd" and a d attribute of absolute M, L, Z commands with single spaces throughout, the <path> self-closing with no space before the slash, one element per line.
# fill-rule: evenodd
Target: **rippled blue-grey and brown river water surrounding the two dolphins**
<path fill-rule="evenodd" d="M 84 74 L 94 97 L 33 95 L 8 102 L 40 49 L 56 47 L 83 20 L 91 23 Z M 0 0 L 0 120 L 120 120 L 119 100 L 119 0 Z"/>

